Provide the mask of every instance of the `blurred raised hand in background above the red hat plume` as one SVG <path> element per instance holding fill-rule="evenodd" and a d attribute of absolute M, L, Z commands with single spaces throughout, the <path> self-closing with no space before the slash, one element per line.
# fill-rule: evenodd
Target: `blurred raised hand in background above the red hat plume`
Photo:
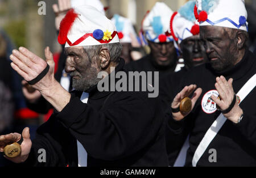
<path fill-rule="evenodd" d="M 60 29 L 60 22 L 67 14 L 71 7 L 71 0 L 59 0 L 58 4 L 52 5 L 52 9 L 55 12 L 55 27 L 57 30 Z"/>

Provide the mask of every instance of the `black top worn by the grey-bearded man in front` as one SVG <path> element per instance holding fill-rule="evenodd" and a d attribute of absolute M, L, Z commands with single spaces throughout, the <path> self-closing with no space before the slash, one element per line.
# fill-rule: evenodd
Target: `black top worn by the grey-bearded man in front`
<path fill-rule="evenodd" d="M 121 60 L 115 71 L 123 71 Z M 88 166 L 168 166 L 163 112 L 147 92 L 89 91 L 88 104 L 81 92 L 63 111 L 55 112 L 38 129 L 28 165 L 77 166 L 77 142 L 88 152 Z M 46 163 L 37 162 L 39 149 Z"/>

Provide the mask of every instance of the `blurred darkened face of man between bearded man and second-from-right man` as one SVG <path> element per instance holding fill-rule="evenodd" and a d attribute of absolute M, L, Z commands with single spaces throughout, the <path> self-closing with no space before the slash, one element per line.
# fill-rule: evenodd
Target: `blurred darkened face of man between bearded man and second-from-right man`
<path fill-rule="evenodd" d="M 148 45 L 150 46 L 153 60 L 158 66 L 167 67 L 176 65 L 177 53 L 173 41 L 168 43 L 153 43 L 148 41 Z"/>

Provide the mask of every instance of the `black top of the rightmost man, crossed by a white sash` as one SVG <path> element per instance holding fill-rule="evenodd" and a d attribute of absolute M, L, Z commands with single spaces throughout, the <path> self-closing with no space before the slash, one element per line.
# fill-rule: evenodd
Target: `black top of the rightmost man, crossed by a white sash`
<path fill-rule="evenodd" d="M 221 113 L 220 111 L 216 111 L 212 114 L 207 114 L 201 107 L 203 96 L 210 90 L 216 90 L 214 87 L 216 77 L 223 75 L 227 80 L 233 78 L 234 92 L 237 93 L 255 73 L 255 57 L 249 50 L 246 50 L 243 59 L 230 70 L 216 73 L 210 67 L 209 63 L 207 63 L 195 67 L 185 74 L 180 90 L 189 84 L 197 84 L 197 87 L 203 89 L 203 93 L 197 101 L 195 108 L 191 114 L 184 118 L 184 120 L 191 121 L 187 166 L 191 166 L 197 146 L 199 146 L 205 133 Z M 245 115 L 242 121 L 239 124 L 233 124 L 232 121 L 227 120 L 210 143 L 203 156 L 199 159 L 197 166 L 256 166 L 255 100 L 256 88 L 254 88 L 240 104 Z M 168 125 L 177 133 L 184 127 L 184 120 L 176 122 L 170 118 Z M 216 163 L 209 162 L 209 149 L 215 149 L 217 151 Z"/>

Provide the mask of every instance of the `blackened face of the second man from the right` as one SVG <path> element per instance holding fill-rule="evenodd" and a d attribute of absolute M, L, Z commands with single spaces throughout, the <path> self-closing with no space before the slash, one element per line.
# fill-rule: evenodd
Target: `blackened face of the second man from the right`
<path fill-rule="evenodd" d="M 180 49 L 185 65 L 189 68 L 207 62 L 207 54 L 199 35 L 183 40 L 180 44 Z"/>

